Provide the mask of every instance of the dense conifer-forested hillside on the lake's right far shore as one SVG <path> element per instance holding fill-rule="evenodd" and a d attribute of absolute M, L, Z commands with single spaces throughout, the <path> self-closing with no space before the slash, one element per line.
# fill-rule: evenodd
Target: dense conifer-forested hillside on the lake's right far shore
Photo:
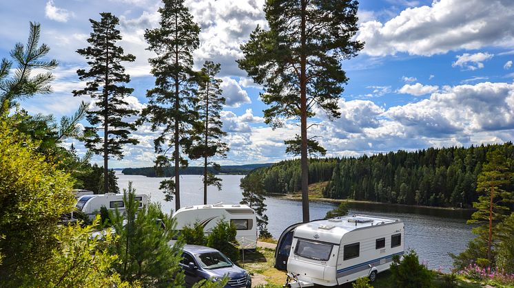
<path fill-rule="evenodd" d="M 331 199 L 356 199 L 408 205 L 471 207 L 477 200 L 477 175 L 486 153 L 500 149 L 514 159 L 511 142 L 469 148 L 428 148 L 354 158 L 311 159 L 309 184 L 330 181 L 324 195 Z M 514 163 L 511 162 L 511 170 Z M 298 160 L 252 171 L 259 173 L 271 193 L 300 189 Z"/>

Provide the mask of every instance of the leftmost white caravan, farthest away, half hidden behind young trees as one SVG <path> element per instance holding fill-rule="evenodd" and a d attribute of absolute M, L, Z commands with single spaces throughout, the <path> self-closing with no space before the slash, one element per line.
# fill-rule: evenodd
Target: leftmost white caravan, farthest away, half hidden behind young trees
<path fill-rule="evenodd" d="M 136 200 L 139 201 L 139 207 L 148 204 L 148 196 L 144 194 L 136 194 Z M 123 203 L 123 194 L 107 193 L 97 195 L 83 195 L 79 198 L 75 207 L 88 214 L 90 219 L 94 219 L 96 214 L 100 213 L 100 208 L 104 206 L 107 210 L 115 210 L 116 207 L 120 211 L 125 211 L 125 203 Z"/>

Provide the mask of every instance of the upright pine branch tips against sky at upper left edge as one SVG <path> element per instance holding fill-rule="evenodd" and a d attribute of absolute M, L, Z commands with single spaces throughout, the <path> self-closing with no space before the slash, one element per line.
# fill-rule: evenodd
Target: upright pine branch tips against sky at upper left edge
<path fill-rule="evenodd" d="M 17 67 L 9 77 L 12 61 L 3 58 L 0 63 L 0 107 L 6 111 L 14 106 L 16 100 L 30 98 L 36 94 L 52 92 L 50 82 L 54 79 L 47 71 L 32 76 L 34 69 L 52 70 L 57 67 L 56 60 L 43 60 L 50 52 L 46 44 L 39 46 L 41 25 L 30 22 L 30 33 L 27 44 L 17 43 L 11 51 Z"/>

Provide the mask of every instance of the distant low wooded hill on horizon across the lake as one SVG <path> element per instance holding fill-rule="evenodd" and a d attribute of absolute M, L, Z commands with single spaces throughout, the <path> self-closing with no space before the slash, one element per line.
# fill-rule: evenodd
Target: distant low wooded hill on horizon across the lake
<path fill-rule="evenodd" d="M 246 175 L 251 170 L 256 168 L 262 168 L 271 166 L 273 163 L 265 164 L 247 164 L 247 165 L 229 165 L 221 166 L 219 171 L 209 167 L 209 172 L 214 174 L 236 174 Z M 165 169 L 164 175 L 156 175 L 154 167 L 143 167 L 143 168 L 124 168 L 121 171 L 125 175 L 143 175 L 146 177 L 173 177 L 175 174 L 174 168 Z M 203 175 L 203 166 L 190 166 L 185 169 L 181 169 L 179 172 L 181 175 Z"/>

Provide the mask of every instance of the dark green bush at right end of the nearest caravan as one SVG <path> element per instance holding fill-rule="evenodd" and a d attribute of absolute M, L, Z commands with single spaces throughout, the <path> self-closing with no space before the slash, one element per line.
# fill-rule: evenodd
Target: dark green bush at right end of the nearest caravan
<path fill-rule="evenodd" d="M 395 287 L 426 288 L 432 286 L 433 274 L 420 264 L 418 254 L 408 250 L 400 261 L 400 256 L 393 256 L 391 276 Z"/>

